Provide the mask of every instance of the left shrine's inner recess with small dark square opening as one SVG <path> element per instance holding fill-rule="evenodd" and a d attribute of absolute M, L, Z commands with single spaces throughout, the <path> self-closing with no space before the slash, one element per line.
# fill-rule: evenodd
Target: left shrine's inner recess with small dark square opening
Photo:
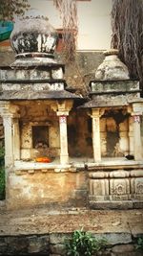
<path fill-rule="evenodd" d="M 58 118 L 48 105 L 37 102 L 21 106 L 20 134 L 22 160 L 59 156 Z"/>

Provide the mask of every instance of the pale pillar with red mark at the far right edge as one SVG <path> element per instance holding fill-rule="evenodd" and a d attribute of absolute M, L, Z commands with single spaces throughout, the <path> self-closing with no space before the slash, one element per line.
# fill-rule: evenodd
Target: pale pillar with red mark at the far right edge
<path fill-rule="evenodd" d="M 141 130 L 140 130 L 140 117 L 141 113 L 132 113 L 133 115 L 133 153 L 134 159 L 142 160 L 143 159 L 143 149 L 141 143 Z"/>

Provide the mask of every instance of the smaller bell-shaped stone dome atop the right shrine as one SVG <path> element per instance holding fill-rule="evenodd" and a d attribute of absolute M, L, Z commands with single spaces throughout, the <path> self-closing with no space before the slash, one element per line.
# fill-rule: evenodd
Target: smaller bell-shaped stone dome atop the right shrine
<path fill-rule="evenodd" d="M 104 53 L 105 59 L 95 72 L 95 79 L 102 81 L 129 80 L 127 66 L 118 58 L 118 50 L 111 49 Z"/>

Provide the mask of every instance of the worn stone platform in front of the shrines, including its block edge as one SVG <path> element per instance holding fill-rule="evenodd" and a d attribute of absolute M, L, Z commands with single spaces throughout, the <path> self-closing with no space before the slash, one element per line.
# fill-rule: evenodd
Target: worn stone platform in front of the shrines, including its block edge
<path fill-rule="evenodd" d="M 107 239 L 109 254 L 103 255 L 143 255 L 134 247 L 143 235 L 143 209 L 6 211 L 4 206 L 0 212 L 0 255 L 65 255 L 65 237 L 81 228 Z"/>

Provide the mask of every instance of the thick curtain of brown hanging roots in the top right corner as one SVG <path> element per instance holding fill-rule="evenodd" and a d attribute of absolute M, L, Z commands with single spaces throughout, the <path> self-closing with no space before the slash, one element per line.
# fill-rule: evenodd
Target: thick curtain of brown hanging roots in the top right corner
<path fill-rule="evenodd" d="M 143 89 L 143 0 L 112 0 L 112 48 Z"/>

